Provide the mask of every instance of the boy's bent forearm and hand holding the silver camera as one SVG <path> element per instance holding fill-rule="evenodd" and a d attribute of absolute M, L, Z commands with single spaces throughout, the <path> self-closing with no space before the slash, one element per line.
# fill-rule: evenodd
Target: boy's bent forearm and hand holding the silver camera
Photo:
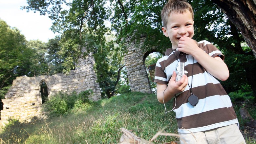
<path fill-rule="evenodd" d="M 162 84 L 157 82 L 157 99 L 160 103 L 167 102 L 172 99 L 175 94 L 182 92 L 187 86 L 188 78 L 186 75 L 183 75 L 181 80 L 175 82 L 176 72 L 173 71 L 172 77 L 167 84 Z M 165 90 L 166 89 L 166 90 Z M 164 95 L 163 95 L 164 92 Z"/>

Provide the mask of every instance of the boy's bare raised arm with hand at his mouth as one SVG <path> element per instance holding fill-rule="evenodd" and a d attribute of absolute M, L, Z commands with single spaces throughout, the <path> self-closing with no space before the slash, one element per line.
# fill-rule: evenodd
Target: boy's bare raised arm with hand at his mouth
<path fill-rule="evenodd" d="M 197 46 L 193 39 L 186 36 L 181 37 L 178 47 L 179 51 L 192 55 L 215 78 L 225 81 L 229 77 L 229 71 L 224 61 L 218 56 L 215 58 L 209 56 Z"/>

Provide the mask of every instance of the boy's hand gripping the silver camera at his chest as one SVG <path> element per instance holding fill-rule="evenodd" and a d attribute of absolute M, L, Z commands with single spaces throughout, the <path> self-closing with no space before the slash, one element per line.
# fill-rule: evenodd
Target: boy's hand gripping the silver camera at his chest
<path fill-rule="evenodd" d="M 188 78 L 186 75 L 183 75 L 181 80 L 177 81 L 177 82 L 175 82 L 175 78 L 176 78 L 176 72 L 173 71 L 172 77 L 171 77 L 171 79 L 168 83 L 168 87 L 167 87 L 167 89 L 171 90 L 174 95 L 182 92 L 188 83 Z"/>

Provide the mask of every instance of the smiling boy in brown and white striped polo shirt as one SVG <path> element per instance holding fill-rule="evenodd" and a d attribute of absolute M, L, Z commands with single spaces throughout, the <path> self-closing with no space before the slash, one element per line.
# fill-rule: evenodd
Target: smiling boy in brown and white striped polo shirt
<path fill-rule="evenodd" d="M 161 11 L 163 34 L 172 43 L 155 69 L 157 98 L 173 97 L 181 143 L 245 143 L 229 96 L 217 79 L 227 80 L 224 55 L 207 41 L 197 43 L 194 14 L 185 0 L 169 0 Z M 184 63 L 187 75 L 176 80 L 176 65 Z M 217 79 L 216 79 L 217 78 Z"/>

